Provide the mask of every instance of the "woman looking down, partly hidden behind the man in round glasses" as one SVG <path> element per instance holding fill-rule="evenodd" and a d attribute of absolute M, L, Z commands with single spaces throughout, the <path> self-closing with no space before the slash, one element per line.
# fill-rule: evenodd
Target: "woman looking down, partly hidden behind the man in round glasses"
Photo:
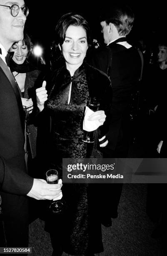
<path fill-rule="evenodd" d="M 27 112 L 31 113 L 33 108 L 33 102 L 35 100 L 35 90 L 34 84 L 40 71 L 37 70 L 30 62 L 28 57 L 30 56 L 32 49 L 32 43 L 30 37 L 25 33 L 24 39 L 14 43 L 9 51 L 14 52 L 12 60 L 10 61 L 10 70 L 12 71 L 17 84 L 20 88 L 20 93 L 22 95 L 22 104 L 24 107 L 24 102 L 28 105 Z M 27 101 L 23 98 L 28 99 Z M 28 114 L 27 113 L 27 114 Z M 31 114 L 32 116 L 32 114 Z M 28 143 L 28 155 L 29 160 L 35 159 L 36 157 L 36 138 L 37 138 L 37 128 L 33 124 L 33 118 L 31 116 L 28 118 L 27 125 L 27 143 Z M 32 122 L 32 123 L 31 123 Z"/>

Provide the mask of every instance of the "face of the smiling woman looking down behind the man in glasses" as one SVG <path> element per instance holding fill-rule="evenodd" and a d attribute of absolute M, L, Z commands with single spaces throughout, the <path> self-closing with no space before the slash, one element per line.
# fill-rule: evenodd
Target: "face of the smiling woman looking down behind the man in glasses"
<path fill-rule="evenodd" d="M 27 53 L 28 53 L 27 46 L 24 44 L 24 41 L 22 42 L 22 40 L 16 44 L 13 44 L 10 47 L 10 51 L 15 52 L 13 55 L 13 60 L 17 64 L 22 64 L 25 61 L 25 59 L 27 57 Z"/>

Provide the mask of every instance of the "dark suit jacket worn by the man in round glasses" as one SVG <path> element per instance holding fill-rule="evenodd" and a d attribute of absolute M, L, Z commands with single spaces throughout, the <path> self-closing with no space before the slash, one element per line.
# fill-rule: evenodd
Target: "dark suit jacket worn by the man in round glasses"
<path fill-rule="evenodd" d="M 26 195 L 33 179 L 25 169 L 24 120 L 20 111 L 12 85 L 0 68 L 0 191 Z"/>

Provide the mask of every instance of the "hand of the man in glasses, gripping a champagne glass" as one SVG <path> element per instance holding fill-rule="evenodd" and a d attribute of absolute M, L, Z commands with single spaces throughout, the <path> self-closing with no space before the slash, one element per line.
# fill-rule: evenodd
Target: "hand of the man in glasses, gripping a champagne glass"
<path fill-rule="evenodd" d="M 60 195 L 61 187 L 62 184 L 47 184 L 44 179 L 34 179 L 32 189 L 27 196 L 37 200 L 53 200 Z"/>

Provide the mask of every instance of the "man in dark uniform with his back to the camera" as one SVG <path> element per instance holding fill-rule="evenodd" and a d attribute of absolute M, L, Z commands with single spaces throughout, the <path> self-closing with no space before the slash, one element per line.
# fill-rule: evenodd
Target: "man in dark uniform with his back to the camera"
<path fill-rule="evenodd" d="M 103 49 L 97 49 L 92 65 L 102 70 L 111 79 L 113 98 L 110 109 L 110 128 L 106 135 L 108 144 L 102 148 L 105 158 L 126 158 L 129 149 L 130 103 L 141 73 L 141 58 L 138 51 L 127 43 L 134 14 L 125 7 L 110 7 L 101 18 L 104 42 Z M 107 194 L 102 211 L 102 223 L 111 225 L 111 217 L 117 217 L 122 184 L 104 184 Z M 110 196 L 110 200 L 107 199 Z M 104 199 L 103 199 L 104 200 Z"/>

